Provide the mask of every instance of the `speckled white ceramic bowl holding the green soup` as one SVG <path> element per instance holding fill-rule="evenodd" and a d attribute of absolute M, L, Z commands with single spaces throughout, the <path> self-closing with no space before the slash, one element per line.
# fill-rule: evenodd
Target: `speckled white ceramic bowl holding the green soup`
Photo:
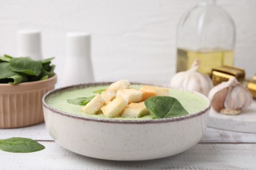
<path fill-rule="evenodd" d="M 104 83 L 109 84 L 109 83 Z M 154 120 L 117 120 L 91 118 L 64 112 L 47 104 L 53 95 L 96 84 L 59 88 L 43 97 L 45 125 L 56 143 L 77 154 L 104 160 L 152 160 L 179 154 L 197 144 L 206 129 L 210 102 L 204 95 L 190 93 L 206 105 L 198 112 L 175 118 Z M 179 93 L 179 92 L 177 92 Z M 189 100 L 189 99 L 188 99 Z M 191 100 L 192 101 L 192 100 Z M 197 105 L 192 105 L 196 108 Z"/>

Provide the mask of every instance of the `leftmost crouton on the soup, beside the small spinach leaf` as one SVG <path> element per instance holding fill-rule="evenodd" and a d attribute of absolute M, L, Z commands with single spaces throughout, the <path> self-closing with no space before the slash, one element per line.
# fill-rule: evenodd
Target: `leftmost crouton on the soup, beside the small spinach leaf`
<path fill-rule="evenodd" d="M 87 114 L 96 114 L 103 105 L 104 105 L 104 100 L 102 99 L 100 94 L 97 94 L 81 110 Z"/>

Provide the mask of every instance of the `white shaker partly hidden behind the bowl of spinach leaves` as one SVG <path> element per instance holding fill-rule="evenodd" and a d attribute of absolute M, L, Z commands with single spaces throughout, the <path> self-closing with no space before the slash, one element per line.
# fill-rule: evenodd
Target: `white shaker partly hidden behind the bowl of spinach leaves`
<path fill-rule="evenodd" d="M 17 38 L 18 57 L 30 57 L 35 60 L 42 59 L 40 31 L 19 30 Z"/>

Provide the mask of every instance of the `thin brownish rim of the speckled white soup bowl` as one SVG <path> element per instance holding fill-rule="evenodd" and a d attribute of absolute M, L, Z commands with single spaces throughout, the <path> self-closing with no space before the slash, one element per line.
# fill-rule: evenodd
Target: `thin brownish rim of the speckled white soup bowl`
<path fill-rule="evenodd" d="M 194 118 L 196 116 L 201 116 L 202 114 L 205 114 L 210 108 L 211 108 L 211 102 L 209 101 L 209 99 L 203 95 L 202 93 L 199 92 L 195 92 L 195 91 L 190 91 L 190 90 L 181 90 L 178 88 L 171 88 L 170 86 L 165 86 L 165 85 L 161 85 L 161 84 L 148 84 L 148 83 L 141 83 L 141 82 L 131 82 L 131 84 L 135 84 L 135 85 L 148 85 L 148 86 L 158 86 L 161 88 L 170 88 L 170 89 L 175 89 L 175 90 L 181 90 L 181 91 L 185 91 L 185 92 L 189 92 L 189 93 L 194 93 L 196 95 L 200 95 L 200 97 L 203 97 L 205 99 L 205 101 L 207 101 L 208 105 L 207 107 L 205 107 L 205 109 L 200 110 L 199 112 L 195 112 L 193 114 L 188 114 L 188 115 L 184 115 L 184 116 L 177 116 L 174 118 L 159 118 L 159 119 L 150 119 L 150 120 L 118 120 L 118 119 L 111 119 L 111 118 L 94 118 L 94 117 L 88 117 L 88 116 L 81 116 L 79 114 L 73 114 L 73 113 L 69 113 L 69 112 L 64 112 L 58 109 L 54 109 L 53 107 L 49 106 L 45 99 L 56 92 L 64 92 L 66 90 L 69 89 L 79 89 L 79 88 L 89 88 L 89 87 L 93 87 L 93 86 L 106 86 L 109 85 L 113 82 L 90 82 L 90 83 L 85 83 L 85 84 L 74 84 L 72 86 L 65 86 L 62 88 L 56 88 L 54 90 L 51 90 L 47 93 L 45 93 L 45 95 L 43 95 L 42 98 L 42 103 L 43 103 L 43 107 L 45 107 L 46 109 L 51 110 L 54 114 L 60 114 L 62 116 L 68 116 L 70 118 L 75 118 L 75 119 L 79 119 L 79 120 L 88 120 L 88 121 L 93 121 L 93 122 L 104 122 L 104 123 L 117 123 L 117 124 L 149 124 L 149 123 L 163 123 L 163 122 L 177 122 L 177 121 L 181 121 L 181 120 L 187 120 L 190 118 Z M 43 110 L 43 112 L 45 112 L 45 110 Z"/>

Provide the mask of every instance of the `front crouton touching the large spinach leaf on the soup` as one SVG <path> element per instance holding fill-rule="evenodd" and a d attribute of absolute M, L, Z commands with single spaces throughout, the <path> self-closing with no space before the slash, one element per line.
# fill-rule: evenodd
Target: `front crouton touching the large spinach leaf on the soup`
<path fill-rule="evenodd" d="M 144 102 L 140 102 L 129 104 L 127 107 L 125 107 L 125 110 L 121 116 L 124 118 L 140 118 L 146 114 L 148 114 L 148 109 L 146 109 Z"/>

